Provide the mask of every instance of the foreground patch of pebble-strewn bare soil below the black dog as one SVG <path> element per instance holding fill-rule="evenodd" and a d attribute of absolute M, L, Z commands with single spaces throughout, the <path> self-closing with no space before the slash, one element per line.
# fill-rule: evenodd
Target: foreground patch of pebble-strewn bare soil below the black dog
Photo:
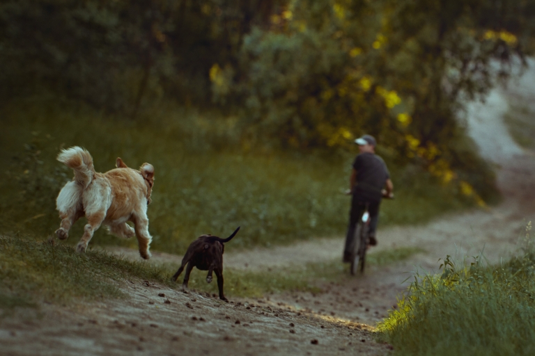
<path fill-rule="evenodd" d="M 127 281 L 128 300 L 20 311 L 0 323 L 1 355 L 376 355 L 370 327 L 274 300 L 234 300 Z"/>

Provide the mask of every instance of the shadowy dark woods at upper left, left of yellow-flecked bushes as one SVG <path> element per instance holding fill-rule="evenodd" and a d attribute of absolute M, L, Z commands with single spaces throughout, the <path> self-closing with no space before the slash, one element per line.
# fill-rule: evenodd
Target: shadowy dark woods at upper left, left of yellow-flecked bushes
<path fill-rule="evenodd" d="M 36 86 L 111 111 L 166 94 L 210 97 L 214 58 L 233 61 L 242 35 L 276 0 L 6 0 L 0 3 L 3 97 Z M 260 8 L 262 11 L 257 12 Z"/>

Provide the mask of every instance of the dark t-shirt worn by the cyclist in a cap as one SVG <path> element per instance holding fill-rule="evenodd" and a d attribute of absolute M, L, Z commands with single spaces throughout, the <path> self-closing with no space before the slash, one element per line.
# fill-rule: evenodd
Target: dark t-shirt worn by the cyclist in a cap
<path fill-rule="evenodd" d="M 390 177 L 385 161 L 376 154 L 364 152 L 355 158 L 353 168 L 357 171 L 355 195 L 362 200 L 380 201 L 381 190 Z"/>

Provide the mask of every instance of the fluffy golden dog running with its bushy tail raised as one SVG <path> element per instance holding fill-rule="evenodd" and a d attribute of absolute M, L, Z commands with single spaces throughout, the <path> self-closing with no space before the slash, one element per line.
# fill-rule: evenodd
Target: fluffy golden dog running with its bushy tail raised
<path fill-rule="evenodd" d="M 136 235 L 139 254 L 148 259 L 152 237 L 148 233 L 147 205 L 154 184 L 153 165 L 143 163 L 139 170 L 134 170 L 118 158 L 116 169 L 98 173 L 93 167 L 93 157 L 81 147 L 63 149 L 57 159 L 75 172 L 74 179 L 61 188 L 56 199 L 61 218 L 61 227 L 56 230 L 58 238 L 68 238 L 72 224 L 86 216 L 78 252 L 86 251 L 93 233 L 104 224 L 116 236 Z M 134 223 L 135 229 L 127 221 Z"/>

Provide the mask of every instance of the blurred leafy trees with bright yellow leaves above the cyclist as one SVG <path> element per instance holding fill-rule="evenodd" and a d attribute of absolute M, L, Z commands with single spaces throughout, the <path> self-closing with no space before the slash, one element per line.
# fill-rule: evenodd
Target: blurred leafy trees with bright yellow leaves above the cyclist
<path fill-rule="evenodd" d="M 476 191 L 493 190 L 490 170 L 456 118 L 467 99 L 509 75 L 513 60 L 524 61 L 534 6 L 290 1 L 268 31 L 245 37 L 238 72 L 247 74 L 233 88 L 253 139 L 339 146 L 372 133 L 395 149 L 391 159 L 422 165 L 483 204 Z"/>

